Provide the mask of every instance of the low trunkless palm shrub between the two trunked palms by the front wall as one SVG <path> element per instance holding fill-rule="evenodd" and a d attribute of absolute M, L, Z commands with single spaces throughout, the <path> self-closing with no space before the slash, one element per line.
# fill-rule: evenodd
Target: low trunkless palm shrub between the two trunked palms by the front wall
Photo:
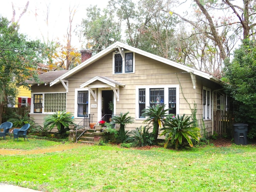
<path fill-rule="evenodd" d="M 130 132 L 131 138 L 135 140 L 136 146 L 143 147 L 152 145 L 152 134 L 148 130 L 149 127 L 143 126 L 142 128 L 142 126 L 140 126 Z"/>

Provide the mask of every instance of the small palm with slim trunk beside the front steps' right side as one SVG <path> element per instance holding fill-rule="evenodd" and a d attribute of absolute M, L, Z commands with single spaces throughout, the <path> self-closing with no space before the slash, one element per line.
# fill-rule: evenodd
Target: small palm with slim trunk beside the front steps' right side
<path fill-rule="evenodd" d="M 120 113 L 119 116 L 113 116 L 112 117 L 112 124 L 120 124 L 120 128 L 118 131 L 118 142 L 124 142 L 126 140 L 126 132 L 125 132 L 125 126 L 126 124 L 130 124 L 134 122 L 134 118 L 131 116 L 128 116 L 129 112 L 122 114 Z"/>

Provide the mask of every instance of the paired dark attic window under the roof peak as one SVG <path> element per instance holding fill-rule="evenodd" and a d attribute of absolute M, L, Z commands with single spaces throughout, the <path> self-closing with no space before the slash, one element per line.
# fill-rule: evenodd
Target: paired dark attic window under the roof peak
<path fill-rule="evenodd" d="M 134 72 L 134 53 L 127 52 L 124 54 L 124 63 L 121 54 L 114 54 L 114 74 Z"/>

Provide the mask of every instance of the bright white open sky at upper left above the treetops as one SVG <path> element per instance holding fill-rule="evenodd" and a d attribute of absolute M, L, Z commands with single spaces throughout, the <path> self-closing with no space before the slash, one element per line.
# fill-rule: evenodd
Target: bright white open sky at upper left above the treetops
<path fill-rule="evenodd" d="M 77 7 L 72 30 L 78 26 L 82 18 L 85 18 L 86 8 L 97 5 L 99 8 L 106 8 L 108 0 L 0 0 L 0 15 L 12 19 L 12 2 L 16 11 L 15 20 L 18 20 L 26 3 L 29 1 L 27 12 L 20 19 L 20 33 L 26 34 L 29 39 L 43 40 L 64 40 L 69 24 L 69 7 Z M 49 23 L 46 25 L 46 5 L 49 5 Z M 36 16 L 37 15 L 37 16 Z M 74 33 L 72 34 L 72 46 L 81 48 L 82 44 Z"/>

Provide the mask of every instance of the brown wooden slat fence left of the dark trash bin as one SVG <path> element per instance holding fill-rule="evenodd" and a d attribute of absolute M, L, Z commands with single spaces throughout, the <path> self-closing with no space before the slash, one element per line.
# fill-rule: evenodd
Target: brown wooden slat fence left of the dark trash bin
<path fill-rule="evenodd" d="M 218 136 L 232 137 L 233 120 L 232 114 L 228 111 L 215 111 L 213 133 Z"/>

